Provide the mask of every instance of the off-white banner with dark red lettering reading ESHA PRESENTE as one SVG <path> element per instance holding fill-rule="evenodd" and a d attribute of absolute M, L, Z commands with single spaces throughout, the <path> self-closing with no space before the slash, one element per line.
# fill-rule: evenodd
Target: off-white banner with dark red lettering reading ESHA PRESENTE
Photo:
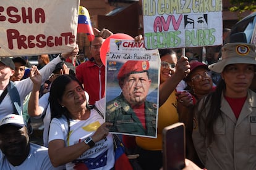
<path fill-rule="evenodd" d="M 72 51 L 79 3 L 79 0 L 1 0 L 0 56 Z"/>

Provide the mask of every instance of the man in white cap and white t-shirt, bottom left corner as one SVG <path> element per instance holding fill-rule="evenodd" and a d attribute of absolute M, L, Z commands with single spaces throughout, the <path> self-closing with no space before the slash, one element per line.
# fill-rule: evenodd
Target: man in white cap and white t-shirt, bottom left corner
<path fill-rule="evenodd" d="M 61 169 L 49 160 L 48 148 L 29 142 L 22 116 L 10 114 L 0 121 L 1 169 Z"/>

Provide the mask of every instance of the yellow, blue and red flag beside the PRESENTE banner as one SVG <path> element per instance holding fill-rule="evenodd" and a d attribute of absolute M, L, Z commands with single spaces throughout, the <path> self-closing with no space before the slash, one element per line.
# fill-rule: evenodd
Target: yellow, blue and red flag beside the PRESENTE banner
<path fill-rule="evenodd" d="M 77 33 L 86 33 L 89 41 L 93 41 L 94 33 L 92 22 L 88 10 L 85 7 L 79 6 L 79 20 Z"/>

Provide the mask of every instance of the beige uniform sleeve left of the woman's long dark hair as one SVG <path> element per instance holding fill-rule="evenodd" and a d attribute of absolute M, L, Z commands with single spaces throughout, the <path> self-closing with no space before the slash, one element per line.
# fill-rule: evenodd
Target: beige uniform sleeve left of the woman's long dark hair
<path fill-rule="evenodd" d="M 192 133 L 192 139 L 195 146 L 195 150 L 197 151 L 197 155 L 202 161 L 203 164 L 205 164 L 206 156 L 207 156 L 207 147 L 205 145 L 205 124 L 202 120 L 202 116 L 198 118 L 198 110 L 200 110 L 203 100 L 200 100 L 200 103 L 198 103 L 197 107 L 194 110 L 194 129 Z M 200 120 L 200 126 L 198 126 L 198 119 Z"/>

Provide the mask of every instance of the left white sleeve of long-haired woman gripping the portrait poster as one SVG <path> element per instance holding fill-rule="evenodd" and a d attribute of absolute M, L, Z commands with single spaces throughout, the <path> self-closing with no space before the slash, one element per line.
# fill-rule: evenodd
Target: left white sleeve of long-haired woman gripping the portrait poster
<path fill-rule="evenodd" d="M 67 124 L 67 123 L 66 123 Z M 53 118 L 49 127 L 49 142 L 51 140 L 62 139 L 65 140 L 67 134 L 66 126 L 57 118 Z"/>

